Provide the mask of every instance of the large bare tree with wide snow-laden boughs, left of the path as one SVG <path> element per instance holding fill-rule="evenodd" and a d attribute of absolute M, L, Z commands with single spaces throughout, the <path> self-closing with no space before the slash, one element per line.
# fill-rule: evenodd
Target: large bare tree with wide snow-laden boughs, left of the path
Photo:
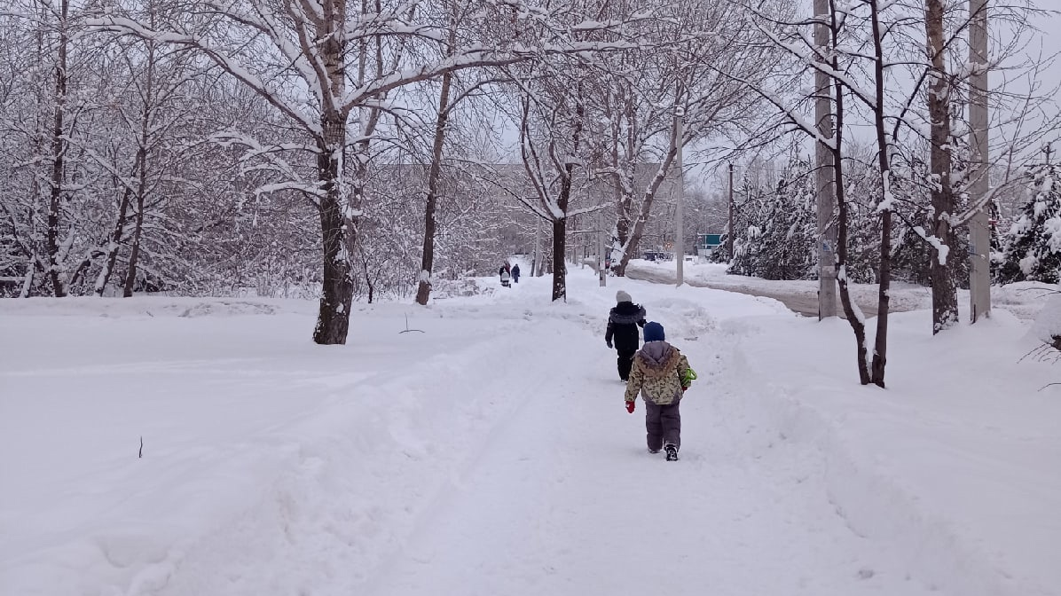
<path fill-rule="evenodd" d="M 196 35 L 186 22 L 174 20 L 166 28 L 112 15 L 93 21 L 97 30 L 154 38 L 194 48 L 254 89 L 282 113 L 308 143 L 295 142 L 282 152 L 310 155 L 312 175 L 300 175 L 273 160 L 289 177 L 269 190 L 297 189 L 319 213 L 323 239 L 324 287 L 314 331 L 318 344 L 343 344 L 349 327 L 352 300 L 350 255 L 356 245 L 358 217 L 365 207 L 363 178 L 371 159 L 371 140 L 382 112 L 389 110 L 388 94 L 446 72 L 515 64 L 539 52 L 594 51 L 614 43 L 573 42 L 559 27 L 567 6 L 541 12 L 520 3 L 492 4 L 469 0 L 476 18 L 467 19 L 458 42 L 440 58 L 425 58 L 418 66 L 404 56 L 422 43 L 445 38 L 431 11 L 416 2 L 363 0 L 350 6 L 346 0 L 306 3 L 298 0 L 247 0 L 229 2 L 201 0 L 192 14 L 213 15 L 212 35 Z M 521 12 L 541 13 L 538 29 L 546 35 L 528 39 L 483 39 L 475 35 L 484 23 L 515 22 Z M 640 17 L 639 17 L 640 18 Z M 576 23 L 569 23 L 576 24 Z M 621 22 L 587 24 L 587 30 L 619 30 Z M 297 82 L 297 83 L 296 83 Z M 303 98 L 301 89 L 310 97 Z M 358 137 L 348 137 L 351 117 Z M 258 143 L 247 141 L 247 146 Z M 352 174 L 346 177 L 347 150 L 352 148 Z M 275 157 L 273 155 L 263 157 Z"/>

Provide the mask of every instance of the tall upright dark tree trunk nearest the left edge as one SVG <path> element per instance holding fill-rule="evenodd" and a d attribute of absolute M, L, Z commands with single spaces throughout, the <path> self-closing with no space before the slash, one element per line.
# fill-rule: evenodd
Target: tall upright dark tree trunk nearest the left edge
<path fill-rule="evenodd" d="M 64 116 L 66 112 L 67 93 L 67 19 L 70 15 L 69 0 L 63 0 L 59 6 L 59 39 L 58 63 L 55 65 L 55 116 L 52 121 L 52 175 L 51 192 L 48 203 L 48 279 L 52 283 L 52 292 L 56 297 L 67 295 L 66 282 L 63 279 L 59 262 L 59 208 L 63 199 L 64 163 L 67 142 L 64 138 Z"/>

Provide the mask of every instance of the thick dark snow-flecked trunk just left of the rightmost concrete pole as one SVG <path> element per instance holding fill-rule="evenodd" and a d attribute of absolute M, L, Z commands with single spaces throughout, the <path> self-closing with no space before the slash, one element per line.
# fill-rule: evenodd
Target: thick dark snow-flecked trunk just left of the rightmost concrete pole
<path fill-rule="evenodd" d="M 943 62 L 943 2 L 926 0 L 925 33 L 927 53 L 932 62 L 932 85 L 928 87 L 928 116 L 932 129 L 932 245 L 928 276 L 932 280 L 933 335 L 958 321 L 958 291 L 954 283 L 955 255 L 951 249 L 957 240 L 951 227 L 954 214 L 954 190 L 951 187 L 951 88 L 946 64 Z M 941 250 L 942 248 L 942 250 Z"/>

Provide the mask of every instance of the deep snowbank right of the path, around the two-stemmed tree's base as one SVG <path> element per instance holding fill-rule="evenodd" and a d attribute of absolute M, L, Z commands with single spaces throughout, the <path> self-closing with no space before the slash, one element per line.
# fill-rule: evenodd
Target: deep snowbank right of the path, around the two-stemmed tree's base
<path fill-rule="evenodd" d="M 837 513 L 902 545 L 915 576 L 963 596 L 1058 594 L 1061 400 L 1040 389 L 1059 373 L 1019 362 L 1033 343 L 1005 311 L 935 338 L 929 323 L 892 317 L 881 390 L 857 386 L 846 323 L 786 322 L 746 344 L 748 379 L 769 379 L 749 390 L 779 432 L 820 446 Z"/>

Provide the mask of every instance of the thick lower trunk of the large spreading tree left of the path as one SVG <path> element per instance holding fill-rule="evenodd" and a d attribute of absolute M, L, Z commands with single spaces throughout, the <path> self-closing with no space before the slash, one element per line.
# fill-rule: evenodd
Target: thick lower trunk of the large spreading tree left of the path
<path fill-rule="evenodd" d="M 325 138 L 318 139 L 317 173 L 325 191 L 320 197 L 320 238 L 324 248 L 324 284 L 313 340 L 325 346 L 346 344 L 353 302 L 349 245 L 354 230 L 343 208 L 342 161 L 346 145 L 346 119 L 336 112 L 321 117 Z"/>

